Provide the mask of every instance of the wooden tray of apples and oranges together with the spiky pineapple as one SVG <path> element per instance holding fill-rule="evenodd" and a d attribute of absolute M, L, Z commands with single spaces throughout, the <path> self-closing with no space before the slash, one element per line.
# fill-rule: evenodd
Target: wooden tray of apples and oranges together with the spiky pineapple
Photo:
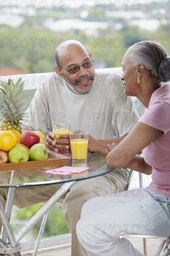
<path fill-rule="evenodd" d="M 59 166 L 70 158 L 46 148 L 41 131 L 22 130 L 26 108 L 21 93 L 23 83 L 0 82 L 0 171 Z"/>

